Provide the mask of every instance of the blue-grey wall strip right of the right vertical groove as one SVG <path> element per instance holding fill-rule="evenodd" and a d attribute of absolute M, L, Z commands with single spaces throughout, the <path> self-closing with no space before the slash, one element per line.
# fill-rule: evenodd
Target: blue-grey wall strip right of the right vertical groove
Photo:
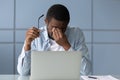
<path fill-rule="evenodd" d="M 120 0 L 93 0 L 93 72 L 120 74 Z"/>

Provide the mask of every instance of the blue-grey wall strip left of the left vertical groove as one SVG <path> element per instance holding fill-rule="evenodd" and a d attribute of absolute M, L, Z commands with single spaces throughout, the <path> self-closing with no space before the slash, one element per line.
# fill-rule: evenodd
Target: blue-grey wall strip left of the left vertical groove
<path fill-rule="evenodd" d="M 0 0 L 0 74 L 13 73 L 14 1 Z"/>

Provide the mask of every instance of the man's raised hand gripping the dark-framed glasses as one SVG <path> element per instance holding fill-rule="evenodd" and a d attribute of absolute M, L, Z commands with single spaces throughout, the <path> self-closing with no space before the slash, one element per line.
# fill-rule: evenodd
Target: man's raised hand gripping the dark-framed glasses
<path fill-rule="evenodd" d="M 40 33 L 40 30 L 35 28 L 35 27 L 32 27 L 30 29 L 27 30 L 26 32 L 26 39 L 25 39 L 25 51 L 28 51 L 31 49 L 31 42 L 39 37 L 39 33 Z"/>

